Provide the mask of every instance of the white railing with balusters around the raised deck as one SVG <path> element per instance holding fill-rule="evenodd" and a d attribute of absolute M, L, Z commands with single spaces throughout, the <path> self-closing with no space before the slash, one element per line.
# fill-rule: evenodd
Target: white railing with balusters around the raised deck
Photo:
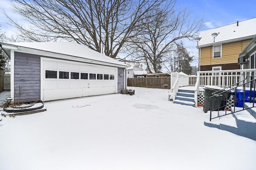
<path fill-rule="evenodd" d="M 184 73 L 171 73 L 171 89 L 173 98 L 178 92 L 178 87 L 195 86 L 195 107 L 197 107 L 197 95 L 200 87 L 204 86 L 237 86 L 241 80 L 244 83 L 250 81 L 249 76 L 256 76 L 256 69 L 198 71 L 196 76 L 188 76 Z M 247 77 L 247 78 L 246 78 Z M 245 79 L 246 78 L 246 79 Z"/>

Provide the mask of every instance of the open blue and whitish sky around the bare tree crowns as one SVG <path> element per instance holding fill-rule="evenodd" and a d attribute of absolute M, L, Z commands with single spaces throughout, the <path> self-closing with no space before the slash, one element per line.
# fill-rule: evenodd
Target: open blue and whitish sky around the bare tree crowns
<path fill-rule="evenodd" d="M 7 13 L 10 12 L 9 2 L 10 0 L 0 0 L 0 8 L 4 8 Z M 205 26 L 202 31 L 256 17 L 256 0 L 177 0 L 176 7 L 187 7 L 192 18 L 203 17 Z M 19 20 L 16 15 L 11 16 Z M 15 34 L 15 29 L 6 22 L 6 17 L 0 13 L 2 31 L 8 36 Z M 191 55 L 198 56 L 195 41 L 184 40 L 184 45 Z M 193 65 L 196 65 L 196 62 Z"/>

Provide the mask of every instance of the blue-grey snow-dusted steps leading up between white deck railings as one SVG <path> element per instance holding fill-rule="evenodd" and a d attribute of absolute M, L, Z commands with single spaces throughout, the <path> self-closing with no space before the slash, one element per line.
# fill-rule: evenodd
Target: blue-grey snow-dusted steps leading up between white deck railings
<path fill-rule="evenodd" d="M 173 103 L 195 106 L 194 90 L 178 89 L 178 92 Z"/>

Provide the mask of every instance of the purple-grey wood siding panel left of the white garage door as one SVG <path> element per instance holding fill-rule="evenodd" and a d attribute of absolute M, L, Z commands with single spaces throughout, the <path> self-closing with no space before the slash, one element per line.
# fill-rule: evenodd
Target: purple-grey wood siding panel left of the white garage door
<path fill-rule="evenodd" d="M 40 100 L 40 56 L 14 53 L 14 102 Z"/>

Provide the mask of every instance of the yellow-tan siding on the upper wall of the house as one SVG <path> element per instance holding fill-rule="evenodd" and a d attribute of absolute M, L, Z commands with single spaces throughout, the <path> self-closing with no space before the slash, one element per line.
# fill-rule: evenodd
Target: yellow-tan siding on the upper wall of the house
<path fill-rule="evenodd" d="M 200 65 L 216 65 L 216 64 L 230 64 L 236 63 L 238 60 L 239 53 L 250 43 L 252 39 L 243 41 L 236 41 L 232 43 L 222 44 L 222 57 L 212 58 L 212 46 L 202 47 L 200 55 Z"/>

